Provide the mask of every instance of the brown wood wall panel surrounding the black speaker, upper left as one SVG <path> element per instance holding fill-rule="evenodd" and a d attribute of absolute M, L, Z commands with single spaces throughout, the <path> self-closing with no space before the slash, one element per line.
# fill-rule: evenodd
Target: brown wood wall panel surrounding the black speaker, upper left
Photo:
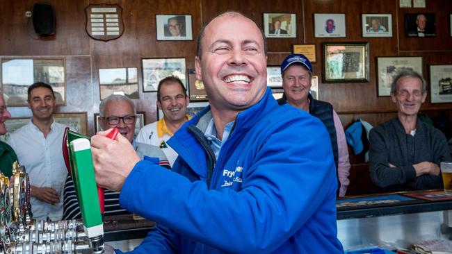
<path fill-rule="evenodd" d="M 49 0 L 56 16 L 56 33 L 39 37 L 33 28 L 33 18 L 25 17 L 36 1 L 0 1 L 0 55 L 4 56 L 67 56 L 89 55 L 85 30 L 84 1 Z"/>

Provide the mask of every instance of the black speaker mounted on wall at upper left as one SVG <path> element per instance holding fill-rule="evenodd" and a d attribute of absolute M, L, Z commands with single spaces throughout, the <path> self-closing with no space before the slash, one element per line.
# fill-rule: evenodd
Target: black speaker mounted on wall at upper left
<path fill-rule="evenodd" d="M 33 27 L 39 35 L 55 34 L 55 13 L 50 3 L 33 5 Z"/>

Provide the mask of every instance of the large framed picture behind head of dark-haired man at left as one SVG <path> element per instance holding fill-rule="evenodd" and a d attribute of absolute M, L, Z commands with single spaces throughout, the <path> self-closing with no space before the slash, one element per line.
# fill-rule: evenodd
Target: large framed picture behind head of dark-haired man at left
<path fill-rule="evenodd" d="M 27 106 L 27 90 L 36 82 L 51 85 L 56 105 L 66 105 L 65 59 L 1 59 L 1 90 L 6 105 Z"/>

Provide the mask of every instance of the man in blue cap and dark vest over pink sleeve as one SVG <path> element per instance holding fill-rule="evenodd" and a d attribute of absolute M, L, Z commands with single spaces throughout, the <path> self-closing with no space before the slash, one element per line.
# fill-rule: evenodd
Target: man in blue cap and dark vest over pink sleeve
<path fill-rule="evenodd" d="M 350 174 L 350 161 L 344 128 L 332 105 L 318 101 L 309 94 L 311 89 L 312 65 L 306 56 L 291 54 L 281 64 L 282 88 L 284 96 L 278 101 L 280 105 L 289 103 L 296 108 L 309 112 L 320 119 L 330 134 L 334 163 L 339 179 L 339 196 L 345 196 Z"/>

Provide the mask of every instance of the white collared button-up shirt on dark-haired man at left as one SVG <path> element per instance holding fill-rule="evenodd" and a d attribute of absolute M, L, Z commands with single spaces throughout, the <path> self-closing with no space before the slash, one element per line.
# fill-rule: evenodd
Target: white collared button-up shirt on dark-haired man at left
<path fill-rule="evenodd" d="M 47 137 L 30 120 L 11 133 L 8 144 L 17 154 L 19 164 L 29 173 L 30 184 L 36 187 L 52 187 L 58 183 L 63 186 L 67 169 L 61 150 L 63 133 L 66 126 L 55 121 L 50 126 Z M 31 197 L 31 212 L 33 219 L 51 219 L 58 221 L 63 218 L 63 192 L 60 193 L 60 203 L 51 205 L 38 198 Z"/>

